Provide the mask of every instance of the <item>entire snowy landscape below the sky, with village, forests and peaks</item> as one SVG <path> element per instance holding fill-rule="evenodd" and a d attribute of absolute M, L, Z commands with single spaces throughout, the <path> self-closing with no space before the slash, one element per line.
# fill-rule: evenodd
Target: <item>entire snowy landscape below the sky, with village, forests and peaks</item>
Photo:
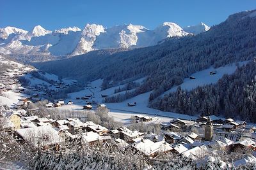
<path fill-rule="evenodd" d="M 255 169 L 255 13 L 1 28 L 0 169 Z"/>

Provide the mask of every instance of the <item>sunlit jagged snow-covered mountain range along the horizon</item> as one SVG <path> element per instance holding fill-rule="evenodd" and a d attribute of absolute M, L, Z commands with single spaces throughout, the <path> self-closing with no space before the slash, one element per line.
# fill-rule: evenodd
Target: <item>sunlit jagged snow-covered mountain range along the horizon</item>
<path fill-rule="evenodd" d="M 157 45 L 165 38 L 187 36 L 208 31 L 204 23 L 185 27 L 164 22 L 149 30 L 141 25 L 86 24 L 79 27 L 62 28 L 55 31 L 36 25 L 31 31 L 16 27 L 0 28 L 0 53 L 17 55 L 81 55 L 92 50 L 106 48 L 132 48 Z"/>

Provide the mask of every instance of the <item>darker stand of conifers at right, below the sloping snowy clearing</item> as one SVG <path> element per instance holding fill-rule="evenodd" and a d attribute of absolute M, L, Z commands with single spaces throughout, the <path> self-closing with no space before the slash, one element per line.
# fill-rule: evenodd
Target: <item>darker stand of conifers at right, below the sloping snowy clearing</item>
<path fill-rule="evenodd" d="M 182 90 L 150 102 L 151 108 L 188 115 L 223 115 L 256 122 L 256 61 L 224 75 L 218 83 Z"/>

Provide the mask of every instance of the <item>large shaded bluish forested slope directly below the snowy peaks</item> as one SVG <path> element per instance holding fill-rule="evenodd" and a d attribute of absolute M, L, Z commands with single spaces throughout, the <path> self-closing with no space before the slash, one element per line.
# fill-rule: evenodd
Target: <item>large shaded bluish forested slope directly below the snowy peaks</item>
<path fill-rule="evenodd" d="M 35 66 L 84 82 L 104 78 L 103 89 L 147 77 L 137 92 L 154 90 L 156 98 L 196 71 L 252 59 L 256 54 L 256 17 L 253 13 L 255 11 L 230 15 L 207 32 L 166 39 L 157 46 L 119 52 L 100 50 Z"/>

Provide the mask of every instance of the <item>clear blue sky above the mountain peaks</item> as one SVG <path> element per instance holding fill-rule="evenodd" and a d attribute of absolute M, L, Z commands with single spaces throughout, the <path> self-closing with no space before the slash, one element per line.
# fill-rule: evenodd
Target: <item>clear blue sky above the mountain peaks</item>
<path fill-rule="evenodd" d="M 86 23 L 105 27 L 121 24 L 154 29 L 163 22 L 184 27 L 204 22 L 216 25 L 228 15 L 256 9 L 255 0 L 0 0 L 0 27 L 31 30 L 35 25 L 54 30 Z"/>

